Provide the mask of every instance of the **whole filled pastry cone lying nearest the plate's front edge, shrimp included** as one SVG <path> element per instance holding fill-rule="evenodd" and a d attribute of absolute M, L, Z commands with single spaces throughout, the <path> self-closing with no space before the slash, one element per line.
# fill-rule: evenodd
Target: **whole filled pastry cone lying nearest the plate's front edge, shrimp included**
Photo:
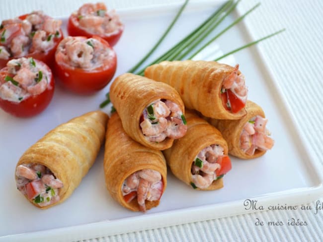
<path fill-rule="evenodd" d="M 167 185 L 161 151 L 128 136 L 117 113 L 112 114 L 107 125 L 104 174 L 111 196 L 132 211 L 145 212 L 158 206 Z"/>

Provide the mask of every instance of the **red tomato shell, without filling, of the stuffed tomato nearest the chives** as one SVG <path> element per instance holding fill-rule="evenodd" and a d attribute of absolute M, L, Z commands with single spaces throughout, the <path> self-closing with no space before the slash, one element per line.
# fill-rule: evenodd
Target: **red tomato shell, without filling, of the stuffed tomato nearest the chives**
<path fill-rule="evenodd" d="M 87 39 L 86 37 L 74 37 L 75 39 Z M 82 68 L 70 66 L 61 59 L 59 49 L 55 55 L 55 73 L 61 80 L 61 83 L 69 90 L 79 94 L 92 94 L 104 88 L 112 79 L 117 68 L 117 56 L 108 42 L 98 36 L 93 39 L 100 41 L 103 46 L 110 50 L 109 56 L 104 62 L 93 70 L 84 70 Z"/>

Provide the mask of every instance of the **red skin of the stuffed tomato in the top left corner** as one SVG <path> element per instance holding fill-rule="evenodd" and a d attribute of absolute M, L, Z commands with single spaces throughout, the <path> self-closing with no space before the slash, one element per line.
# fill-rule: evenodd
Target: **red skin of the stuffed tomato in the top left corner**
<path fill-rule="evenodd" d="M 28 15 L 29 14 L 24 14 L 24 15 L 19 16 L 18 18 L 21 19 L 21 20 L 24 20 Z M 15 25 L 19 25 L 20 29 L 21 29 L 21 23 L 15 24 Z M 63 38 L 64 38 L 63 31 L 62 31 L 62 29 L 60 29 L 59 37 L 56 37 L 56 36 L 53 37 L 53 40 L 54 40 L 55 44 L 51 49 L 47 50 L 46 52 L 35 50 L 35 51 L 32 51 L 32 52 L 28 52 L 25 56 L 19 56 L 19 58 L 20 57 L 26 57 L 26 58 L 32 57 L 32 58 L 34 58 L 36 60 L 43 61 L 50 68 L 53 68 L 54 67 L 54 61 L 55 61 L 55 51 L 56 51 L 56 48 L 57 48 L 58 44 L 60 43 L 60 41 Z M 15 59 L 15 58 L 17 58 L 17 57 L 11 57 L 11 58 L 9 58 L 7 60 L 0 59 L 0 69 L 3 68 L 9 60 L 12 60 L 12 59 Z"/>

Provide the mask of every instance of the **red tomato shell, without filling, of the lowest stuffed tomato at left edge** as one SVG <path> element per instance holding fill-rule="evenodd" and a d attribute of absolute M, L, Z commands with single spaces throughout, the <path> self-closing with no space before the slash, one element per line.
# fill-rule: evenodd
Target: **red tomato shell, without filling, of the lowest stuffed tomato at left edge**
<path fill-rule="evenodd" d="M 40 114 L 47 108 L 54 95 L 55 82 L 51 69 L 40 60 L 34 59 L 34 61 L 37 65 L 42 63 L 51 75 L 47 89 L 38 95 L 30 95 L 19 103 L 0 98 L 0 108 L 5 112 L 19 118 L 27 118 Z M 0 75 L 8 75 L 12 77 L 12 75 L 8 74 L 7 71 L 7 67 L 2 68 L 0 70 Z"/>

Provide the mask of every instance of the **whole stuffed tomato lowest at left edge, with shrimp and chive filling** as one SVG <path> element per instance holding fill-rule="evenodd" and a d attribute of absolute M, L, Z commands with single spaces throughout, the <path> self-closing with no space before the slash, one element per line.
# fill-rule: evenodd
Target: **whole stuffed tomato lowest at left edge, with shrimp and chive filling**
<path fill-rule="evenodd" d="M 51 69 L 33 58 L 9 60 L 0 70 L 0 108 L 16 117 L 31 117 L 49 105 L 54 94 Z"/>

